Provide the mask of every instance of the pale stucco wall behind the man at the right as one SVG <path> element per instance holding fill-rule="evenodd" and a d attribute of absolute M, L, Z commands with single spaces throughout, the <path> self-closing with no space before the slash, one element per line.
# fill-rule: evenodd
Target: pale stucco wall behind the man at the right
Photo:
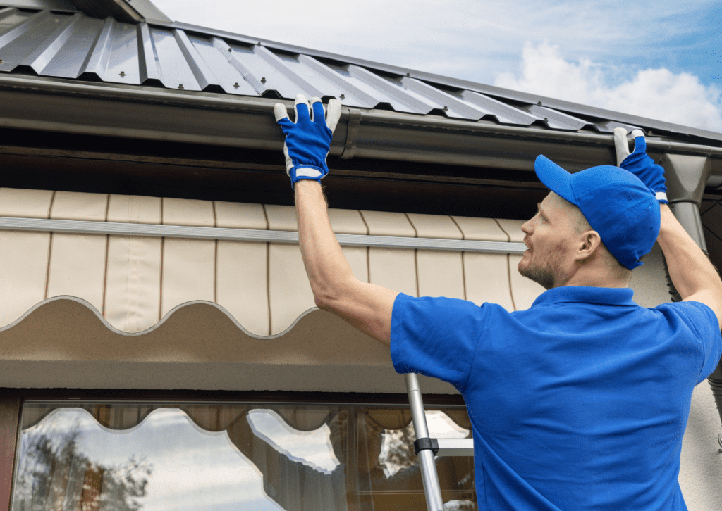
<path fill-rule="evenodd" d="M 662 252 L 655 244 L 644 265 L 632 274 L 634 301 L 654 307 L 670 301 L 662 265 Z M 706 381 L 695 388 L 687 430 L 682 440 L 679 486 L 690 511 L 722 510 L 722 453 L 717 435 L 722 433 L 712 391 Z"/>

